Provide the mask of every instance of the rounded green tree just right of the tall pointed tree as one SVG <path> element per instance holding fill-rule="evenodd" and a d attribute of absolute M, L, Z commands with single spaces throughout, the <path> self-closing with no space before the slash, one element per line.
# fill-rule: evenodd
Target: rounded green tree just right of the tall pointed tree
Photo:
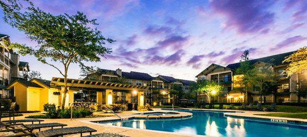
<path fill-rule="evenodd" d="M 273 60 L 264 63 L 258 62 L 260 66 L 255 67 L 251 70 L 250 82 L 251 84 L 259 86 L 260 102 L 262 102 L 262 95 L 266 95 L 266 89 L 269 86 L 266 86 L 266 83 L 277 83 L 276 78 L 274 77 L 272 62 Z"/>

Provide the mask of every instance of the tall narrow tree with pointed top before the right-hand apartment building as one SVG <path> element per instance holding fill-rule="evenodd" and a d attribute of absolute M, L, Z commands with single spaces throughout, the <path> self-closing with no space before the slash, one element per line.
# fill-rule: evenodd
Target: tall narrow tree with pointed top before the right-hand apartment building
<path fill-rule="evenodd" d="M 239 80 L 237 80 L 236 82 L 239 83 L 240 85 L 244 85 L 244 92 L 245 95 L 247 96 L 248 94 L 248 89 L 249 89 L 249 82 L 250 82 L 250 78 L 253 77 L 251 70 L 254 69 L 254 66 L 252 64 L 250 64 L 249 61 L 249 51 L 245 50 L 243 52 L 243 54 L 241 55 L 241 59 L 240 59 L 240 67 L 238 67 L 235 70 L 235 75 L 243 75 L 243 77 L 240 77 Z M 241 87 L 239 87 L 239 89 L 242 89 Z M 248 98 L 246 97 L 246 102 L 248 101 Z"/>

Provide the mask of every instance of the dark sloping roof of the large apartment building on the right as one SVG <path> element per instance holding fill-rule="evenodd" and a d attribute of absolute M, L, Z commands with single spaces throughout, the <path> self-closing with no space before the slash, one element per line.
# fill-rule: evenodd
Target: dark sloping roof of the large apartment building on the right
<path fill-rule="evenodd" d="M 271 59 L 274 59 L 274 61 L 272 61 L 271 63 L 273 65 L 282 65 L 282 64 L 288 64 L 288 63 L 282 63 L 282 61 L 284 60 L 284 58 L 286 58 L 287 56 L 290 56 L 291 54 L 293 54 L 293 52 L 287 52 L 287 53 L 282 53 L 282 54 L 277 54 L 277 55 L 272 55 L 272 56 L 268 56 L 268 57 L 263 57 L 263 58 L 257 58 L 257 59 L 251 59 L 249 60 L 251 64 L 254 64 L 256 62 L 269 62 Z M 240 67 L 240 62 L 237 63 L 233 63 L 233 64 L 229 64 L 226 67 L 232 69 L 232 70 L 236 70 L 238 67 Z"/>

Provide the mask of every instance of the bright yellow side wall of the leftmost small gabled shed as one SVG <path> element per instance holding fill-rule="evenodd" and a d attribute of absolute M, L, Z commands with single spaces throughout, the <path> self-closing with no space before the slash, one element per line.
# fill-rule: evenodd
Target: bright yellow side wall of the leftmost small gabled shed
<path fill-rule="evenodd" d="M 39 110 L 40 108 L 40 89 L 28 87 L 28 111 Z"/>

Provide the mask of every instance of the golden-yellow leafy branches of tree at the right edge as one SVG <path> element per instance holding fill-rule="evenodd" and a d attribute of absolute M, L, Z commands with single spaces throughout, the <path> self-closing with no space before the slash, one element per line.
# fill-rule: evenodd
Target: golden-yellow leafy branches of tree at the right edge
<path fill-rule="evenodd" d="M 286 70 L 283 71 L 288 77 L 294 73 L 304 73 L 307 72 L 307 46 L 298 49 L 296 52 L 286 57 L 282 63 L 290 63 Z"/>

